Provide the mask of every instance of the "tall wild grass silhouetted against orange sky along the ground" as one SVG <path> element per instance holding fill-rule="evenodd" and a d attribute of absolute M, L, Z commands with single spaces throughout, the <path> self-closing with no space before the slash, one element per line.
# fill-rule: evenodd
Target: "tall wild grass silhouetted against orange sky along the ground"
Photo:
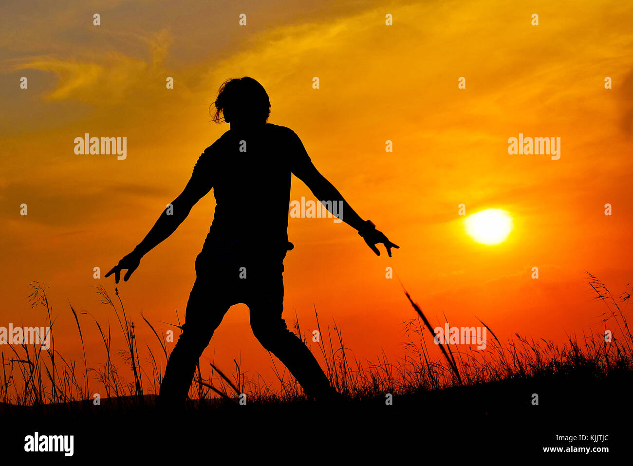
<path fill-rule="evenodd" d="M 437 351 L 432 349 L 437 345 L 429 343 L 433 342 L 434 337 L 429 320 L 404 291 L 413 312 L 412 318 L 403 322 L 407 339 L 403 358 L 392 362 L 383 352 L 375 360 L 360 360 L 344 344 L 341 329 L 335 322 L 331 328 L 330 325 L 322 327 L 315 308 L 315 325 L 320 334 L 316 342 L 316 357 L 322 363 L 332 386 L 346 397 L 356 400 L 384 396 L 384 393 L 410 394 L 451 386 L 572 372 L 582 372 L 594 379 L 601 379 L 618 371 L 630 371 L 633 369 L 633 337 L 625 318 L 630 290 L 615 298 L 605 284 L 589 272 L 587 281 L 595 295 L 594 299 L 606 306 L 601 315 L 605 327 L 602 332 L 583 335 L 580 343 L 576 336 L 569 336 L 565 343 L 556 344 L 542 338 L 528 339 L 516 333 L 504 344 L 490 327 L 480 321 L 491 335 L 486 342 L 486 349 L 479 351 L 472 346 L 439 345 L 441 358 L 438 359 L 434 356 Z M 148 342 L 144 343 L 144 348 L 142 345 L 147 355 L 146 362 L 142 364 L 135 336 L 136 327 L 125 312 L 118 289 L 115 289 L 116 301 L 101 286 L 97 287 L 97 294 L 117 318 L 125 342 L 125 348 L 117 354 L 127 366 L 125 373 L 132 375 L 130 382 L 120 374 L 113 360 L 110 324 L 101 325 L 91 313 L 82 311 L 80 315 L 94 321 L 104 349 L 103 363 L 88 364 L 84 332 L 80 325 L 82 319 L 70 302 L 68 305 L 82 344 L 83 364 L 77 366 L 76 361 L 64 358 L 54 349 L 55 320 L 46 296 L 46 287 L 37 282 L 32 283 L 32 287 L 34 291 L 29 296 L 30 303 L 32 307 L 41 306 L 45 310 L 46 320 L 51 327 L 51 347 L 46 351 L 25 344 L 18 347 L 3 346 L 8 348 L 9 354 L 5 355 L 4 349 L 1 354 L 0 401 L 26 406 L 89 400 L 94 394 L 91 391 L 91 374 L 94 379 L 92 382 L 97 386 L 94 391 L 105 393 L 107 397 L 131 397 L 137 403 L 142 403 L 146 399 L 144 394 L 160 392 L 163 368 L 168 359 L 165 332 L 156 331 L 154 325 L 141 316 L 160 345 L 158 351 L 152 349 Z M 179 319 L 177 324 L 169 325 L 180 329 Z M 605 338 L 607 330 L 611 330 L 611 339 Z M 306 345 L 315 343 L 303 334 L 298 319 L 294 331 Z M 276 384 L 280 388 L 273 389 L 272 384 L 266 383 L 260 374 L 254 373 L 247 377 L 241 360 L 234 360 L 230 372 L 225 373 L 215 362 L 201 358 L 190 398 L 201 405 L 221 400 L 234 403 L 241 393 L 246 393 L 249 401 L 279 402 L 304 398 L 294 377 L 272 355 L 270 357 Z M 77 377 L 80 379 L 77 380 Z"/>

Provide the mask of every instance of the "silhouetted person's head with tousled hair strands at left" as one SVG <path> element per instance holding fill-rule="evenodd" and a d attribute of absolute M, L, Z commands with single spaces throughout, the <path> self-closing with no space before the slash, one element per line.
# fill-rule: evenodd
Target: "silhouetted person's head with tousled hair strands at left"
<path fill-rule="evenodd" d="M 261 124 L 266 123 L 270 116 L 270 99 L 266 90 L 248 76 L 223 82 L 218 97 L 211 104 L 213 106 L 213 121 L 216 123 Z"/>

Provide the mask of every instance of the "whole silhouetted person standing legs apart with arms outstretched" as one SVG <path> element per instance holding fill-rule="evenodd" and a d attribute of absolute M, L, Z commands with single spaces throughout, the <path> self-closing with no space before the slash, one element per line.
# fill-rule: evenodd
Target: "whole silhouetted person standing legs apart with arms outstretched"
<path fill-rule="evenodd" d="M 215 122 L 222 121 L 220 113 L 230 130 L 198 158 L 187 186 L 172 202 L 172 215 L 168 206 L 143 241 L 106 277 L 115 274 L 118 283 L 125 269 L 127 281 L 142 256 L 170 236 L 213 188 L 213 224 L 196 258 L 196 282 L 182 334 L 165 368 L 159 401 L 184 403 L 204 348 L 224 314 L 237 303 L 249 307 L 254 335 L 286 365 L 306 394 L 325 400 L 336 397 L 310 349 L 282 318 L 283 261 L 293 248 L 287 235 L 291 173 L 317 199 L 332 201 L 328 206 L 340 201 L 339 217 L 358 230 L 376 255 L 380 255 L 376 244 L 384 244 L 390 257 L 391 248 L 398 246 L 372 222 L 358 217 L 316 170 L 291 129 L 266 123 L 270 101 L 259 82 L 249 77 L 227 80 L 215 101 Z"/>

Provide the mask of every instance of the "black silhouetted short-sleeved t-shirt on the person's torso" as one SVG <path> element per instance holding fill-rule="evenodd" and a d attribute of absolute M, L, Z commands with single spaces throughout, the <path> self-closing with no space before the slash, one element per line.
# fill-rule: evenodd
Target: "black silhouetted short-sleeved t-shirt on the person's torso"
<path fill-rule="evenodd" d="M 213 187 L 216 201 L 203 251 L 285 254 L 291 173 L 304 164 L 311 160 L 298 135 L 271 123 L 249 132 L 231 129 L 206 148 L 191 177 L 202 190 Z"/>

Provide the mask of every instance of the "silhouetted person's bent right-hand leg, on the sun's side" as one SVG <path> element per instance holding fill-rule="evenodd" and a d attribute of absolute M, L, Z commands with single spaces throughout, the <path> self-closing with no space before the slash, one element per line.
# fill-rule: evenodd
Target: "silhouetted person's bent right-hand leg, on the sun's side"
<path fill-rule="evenodd" d="M 279 272 L 277 272 L 279 271 Z M 251 291 L 249 306 L 251 328 L 262 346 L 294 375 L 308 396 L 329 400 L 339 395 L 331 386 L 315 356 L 301 339 L 291 332 L 282 318 L 284 310 L 283 266 L 271 272 L 270 267 L 256 268 L 253 279 L 258 284 Z"/>

